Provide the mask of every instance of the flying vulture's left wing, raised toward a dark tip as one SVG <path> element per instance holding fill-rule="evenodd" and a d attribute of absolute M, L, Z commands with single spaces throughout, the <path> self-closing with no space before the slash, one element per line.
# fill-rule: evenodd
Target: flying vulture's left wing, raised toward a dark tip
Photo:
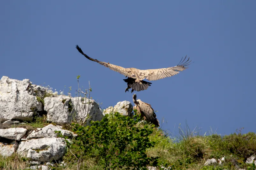
<path fill-rule="evenodd" d="M 120 67 L 118 65 L 113 65 L 113 64 L 106 63 L 106 62 L 102 62 L 102 61 L 99 61 L 97 59 L 93 59 L 93 58 L 87 56 L 86 54 L 84 54 L 84 52 L 82 51 L 82 49 L 78 45 L 76 47 L 77 47 L 77 50 L 81 54 L 83 54 L 86 58 L 88 58 L 89 60 L 95 61 L 95 62 L 99 63 L 100 65 L 104 65 L 105 67 L 108 67 L 110 70 L 119 72 L 120 74 L 125 75 L 127 77 L 136 78 L 136 76 L 129 69 L 124 68 L 124 67 Z"/>

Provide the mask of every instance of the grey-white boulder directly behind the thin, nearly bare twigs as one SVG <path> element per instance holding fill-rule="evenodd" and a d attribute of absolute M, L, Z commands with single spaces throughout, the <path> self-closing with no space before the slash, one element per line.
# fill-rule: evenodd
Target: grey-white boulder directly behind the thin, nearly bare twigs
<path fill-rule="evenodd" d="M 91 120 L 100 121 L 103 119 L 102 110 L 95 100 L 75 97 L 71 98 L 71 103 L 71 119 L 85 122 L 85 125 L 89 125 Z"/>

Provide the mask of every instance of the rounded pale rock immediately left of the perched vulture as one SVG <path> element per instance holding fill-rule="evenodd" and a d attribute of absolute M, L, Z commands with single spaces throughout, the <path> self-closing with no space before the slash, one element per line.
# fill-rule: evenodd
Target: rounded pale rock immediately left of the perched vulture
<path fill-rule="evenodd" d="M 113 109 L 113 112 L 119 112 L 124 116 L 131 116 L 132 111 L 133 111 L 133 107 L 131 102 L 129 101 L 118 102 Z"/>

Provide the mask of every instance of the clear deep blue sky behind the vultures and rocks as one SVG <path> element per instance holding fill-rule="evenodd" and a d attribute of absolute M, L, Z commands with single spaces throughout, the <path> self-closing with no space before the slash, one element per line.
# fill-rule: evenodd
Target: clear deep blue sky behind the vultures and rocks
<path fill-rule="evenodd" d="M 57 91 L 91 82 L 102 108 L 132 102 L 125 77 L 83 57 L 122 67 L 194 63 L 171 78 L 151 81 L 137 97 L 165 118 L 202 133 L 256 132 L 256 1 L 1 1 L 0 78 L 29 78 Z M 65 94 L 68 88 L 64 90 Z M 166 122 L 167 120 L 167 122 Z M 174 128 L 175 126 L 175 128 Z"/>

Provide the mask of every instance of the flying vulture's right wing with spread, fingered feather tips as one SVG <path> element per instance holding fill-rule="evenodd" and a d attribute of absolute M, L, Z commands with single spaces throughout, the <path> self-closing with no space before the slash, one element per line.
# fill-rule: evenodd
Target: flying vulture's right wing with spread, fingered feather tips
<path fill-rule="evenodd" d="M 187 69 L 188 68 L 187 66 L 191 64 L 190 63 L 191 60 L 189 61 L 189 58 L 186 60 L 186 58 L 187 58 L 187 56 L 184 59 L 181 58 L 179 64 L 174 67 L 140 70 L 139 72 L 141 72 L 141 73 L 139 75 L 142 75 L 140 77 L 140 80 L 143 80 L 144 78 L 146 78 L 149 81 L 153 81 L 153 80 L 159 80 L 162 78 L 174 76 L 174 75 L 178 74 L 179 71 L 183 71 L 183 70 Z"/>

